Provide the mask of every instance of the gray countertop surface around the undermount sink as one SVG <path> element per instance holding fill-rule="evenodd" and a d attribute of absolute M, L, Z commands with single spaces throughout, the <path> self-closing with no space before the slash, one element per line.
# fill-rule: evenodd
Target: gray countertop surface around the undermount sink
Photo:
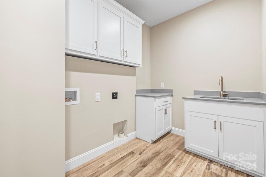
<path fill-rule="evenodd" d="M 197 92 L 195 92 L 195 93 L 197 93 Z M 210 94 L 210 95 L 207 95 L 207 94 L 208 93 L 206 92 L 205 94 L 202 94 L 202 95 L 185 96 L 185 97 L 183 97 L 183 99 L 203 100 L 203 101 L 217 101 L 217 102 L 227 102 L 227 103 L 241 103 L 241 104 L 266 105 L 266 102 L 262 100 L 264 98 L 246 98 L 246 97 L 244 97 L 244 95 L 242 95 L 242 97 L 229 96 L 230 98 L 242 98 L 244 100 L 228 100 L 228 99 L 200 98 L 202 96 L 213 96 L 212 94 Z M 215 96 L 217 96 L 217 95 L 215 95 Z M 217 97 L 219 97 L 219 96 L 217 96 Z"/>

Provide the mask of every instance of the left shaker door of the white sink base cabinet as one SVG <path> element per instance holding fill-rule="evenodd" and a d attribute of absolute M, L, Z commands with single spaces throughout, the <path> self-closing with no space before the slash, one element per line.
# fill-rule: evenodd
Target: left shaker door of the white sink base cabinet
<path fill-rule="evenodd" d="M 218 116 L 186 112 L 186 146 L 218 157 Z"/>

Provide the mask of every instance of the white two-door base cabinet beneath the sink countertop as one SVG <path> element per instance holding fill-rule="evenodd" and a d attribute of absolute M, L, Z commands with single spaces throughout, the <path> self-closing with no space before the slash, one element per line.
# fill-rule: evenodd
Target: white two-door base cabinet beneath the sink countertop
<path fill-rule="evenodd" d="M 266 106 L 185 99 L 185 148 L 265 177 Z"/>

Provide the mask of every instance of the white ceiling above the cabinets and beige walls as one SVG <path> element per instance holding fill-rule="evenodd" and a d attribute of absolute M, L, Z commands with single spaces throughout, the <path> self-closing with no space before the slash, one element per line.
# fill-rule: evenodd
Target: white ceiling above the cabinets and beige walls
<path fill-rule="evenodd" d="M 115 0 L 152 27 L 212 0 Z"/>

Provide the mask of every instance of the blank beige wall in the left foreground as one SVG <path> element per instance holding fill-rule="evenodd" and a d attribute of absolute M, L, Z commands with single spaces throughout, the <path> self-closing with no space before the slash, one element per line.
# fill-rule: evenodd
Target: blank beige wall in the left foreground
<path fill-rule="evenodd" d="M 64 3 L 1 3 L 0 176 L 64 176 Z"/>

